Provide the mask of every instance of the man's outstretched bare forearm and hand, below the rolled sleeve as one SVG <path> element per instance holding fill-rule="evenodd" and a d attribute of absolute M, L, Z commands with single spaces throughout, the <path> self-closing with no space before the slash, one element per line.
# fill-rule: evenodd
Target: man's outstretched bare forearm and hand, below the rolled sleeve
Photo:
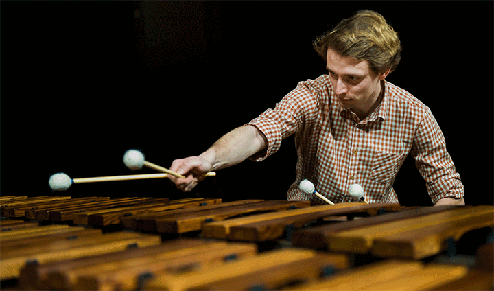
<path fill-rule="evenodd" d="M 268 140 L 255 126 L 240 126 L 218 139 L 211 148 L 199 156 L 173 161 L 170 170 L 186 176 L 170 180 L 182 191 L 191 191 L 202 174 L 237 165 L 268 146 Z"/>

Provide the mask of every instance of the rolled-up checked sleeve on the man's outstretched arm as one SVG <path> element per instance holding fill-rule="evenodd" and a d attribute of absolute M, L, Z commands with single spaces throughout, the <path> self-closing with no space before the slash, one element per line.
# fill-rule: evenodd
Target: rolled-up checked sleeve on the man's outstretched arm
<path fill-rule="evenodd" d="M 255 126 L 266 136 L 268 147 L 250 157 L 252 161 L 263 161 L 281 147 L 281 141 L 314 122 L 317 116 L 318 100 L 321 92 L 311 86 L 311 82 L 300 82 L 296 89 L 288 93 L 248 125 Z"/>

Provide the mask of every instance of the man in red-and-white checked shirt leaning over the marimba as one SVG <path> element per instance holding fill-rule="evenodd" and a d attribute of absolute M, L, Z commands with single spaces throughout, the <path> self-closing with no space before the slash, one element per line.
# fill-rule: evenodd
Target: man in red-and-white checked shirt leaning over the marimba
<path fill-rule="evenodd" d="M 324 203 L 298 189 L 307 178 L 333 202 L 349 201 L 357 183 L 368 202 L 399 202 L 392 188 L 410 152 L 434 205 L 464 205 L 464 188 L 430 109 L 386 82 L 401 59 L 396 32 L 380 14 L 361 10 L 316 41 L 328 75 L 300 82 L 274 109 L 221 137 L 200 156 L 170 167 L 170 179 L 190 191 L 201 174 L 244 161 L 262 161 L 292 134 L 298 161 L 288 200 Z"/>

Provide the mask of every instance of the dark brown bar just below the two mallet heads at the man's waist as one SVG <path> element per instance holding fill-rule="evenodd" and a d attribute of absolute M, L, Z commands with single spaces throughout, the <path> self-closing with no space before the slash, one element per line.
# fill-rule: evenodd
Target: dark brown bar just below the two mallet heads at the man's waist
<path fill-rule="evenodd" d="M 379 209 L 386 211 L 398 211 L 401 209 L 397 204 L 364 204 L 335 209 L 331 215 L 339 216 L 355 212 L 366 212 L 375 214 Z M 324 215 L 326 216 L 326 215 Z M 274 218 L 259 222 L 235 225 L 230 228 L 228 240 L 240 240 L 246 242 L 262 242 L 266 240 L 276 240 L 283 236 L 286 226 L 293 224 L 295 228 L 301 228 L 304 224 L 322 218 L 320 213 L 302 213 L 296 216 Z"/>

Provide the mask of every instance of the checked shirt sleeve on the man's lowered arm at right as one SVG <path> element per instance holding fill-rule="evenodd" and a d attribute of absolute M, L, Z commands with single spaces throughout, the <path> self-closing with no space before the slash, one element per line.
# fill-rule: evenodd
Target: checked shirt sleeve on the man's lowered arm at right
<path fill-rule="evenodd" d="M 460 174 L 456 172 L 446 150 L 443 132 L 429 108 L 425 110 L 425 116 L 416 130 L 411 154 L 434 204 L 441 198 L 464 196 Z"/>

